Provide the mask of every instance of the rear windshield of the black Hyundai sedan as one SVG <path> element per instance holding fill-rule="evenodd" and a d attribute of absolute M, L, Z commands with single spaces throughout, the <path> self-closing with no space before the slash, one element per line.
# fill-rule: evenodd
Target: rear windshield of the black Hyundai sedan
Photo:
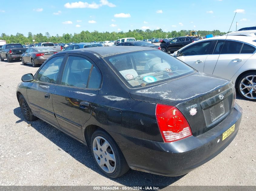
<path fill-rule="evenodd" d="M 130 88 L 140 88 L 193 73 L 194 70 L 159 50 L 106 56 L 105 61 Z"/>

